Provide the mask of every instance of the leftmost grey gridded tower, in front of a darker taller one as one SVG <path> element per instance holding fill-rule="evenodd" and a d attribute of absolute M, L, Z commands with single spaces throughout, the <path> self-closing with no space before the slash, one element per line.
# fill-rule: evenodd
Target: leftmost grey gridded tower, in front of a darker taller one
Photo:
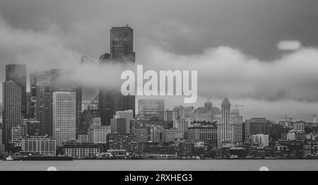
<path fill-rule="evenodd" d="M 3 142 L 7 145 L 11 136 L 11 128 L 22 123 L 21 117 L 21 88 L 13 81 L 2 83 L 3 85 Z"/>

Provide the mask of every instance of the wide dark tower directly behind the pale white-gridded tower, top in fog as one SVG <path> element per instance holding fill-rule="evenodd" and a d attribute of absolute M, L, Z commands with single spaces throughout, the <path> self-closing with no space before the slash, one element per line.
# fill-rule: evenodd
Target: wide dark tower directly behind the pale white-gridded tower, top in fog
<path fill-rule="evenodd" d="M 81 114 L 82 108 L 82 88 L 79 85 L 76 85 L 72 82 L 69 82 L 65 79 L 61 79 L 63 74 L 69 73 L 69 71 L 62 69 L 51 69 L 50 78 L 49 78 L 49 101 L 51 105 L 49 106 L 49 136 L 52 136 L 52 95 L 56 91 L 74 91 L 76 93 L 76 129 L 79 126 L 79 118 Z"/>

